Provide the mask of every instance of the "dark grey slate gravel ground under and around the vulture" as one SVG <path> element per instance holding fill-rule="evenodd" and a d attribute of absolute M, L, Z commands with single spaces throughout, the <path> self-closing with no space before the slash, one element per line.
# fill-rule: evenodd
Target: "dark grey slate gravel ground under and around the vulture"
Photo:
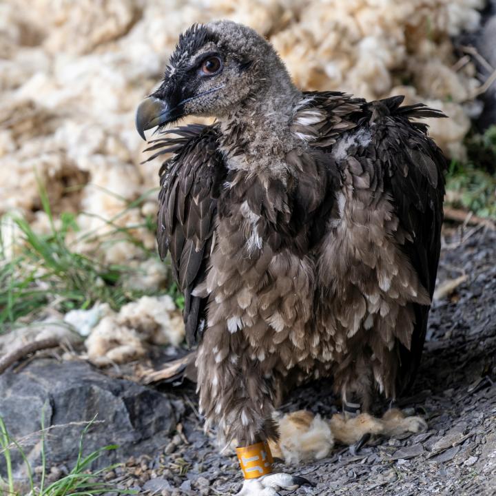
<path fill-rule="evenodd" d="M 399 406 L 417 411 L 428 430 L 403 439 L 372 440 L 358 453 L 335 446 L 331 456 L 302 466 L 276 466 L 316 484 L 295 495 L 496 494 L 496 232 L 446 229 L 438 286 L 466 275 L 431 311 L 422 366 Z M 242 482 L 236 458 L 220 455 L 204 435 L 192 386 L 175 394 L 187 404 L 182 432 L 154 458 L 131 459 L 114 480 L 140 494 L 229 495 Z M 331 384 L 289 397 L 284 411 L 337 411 Z M 376 406 L 378 413 L 386 404 Z M 112 475 L 110 476 L 112 478 Z M 282 492 L 281 495 L 289 494 Z"/>

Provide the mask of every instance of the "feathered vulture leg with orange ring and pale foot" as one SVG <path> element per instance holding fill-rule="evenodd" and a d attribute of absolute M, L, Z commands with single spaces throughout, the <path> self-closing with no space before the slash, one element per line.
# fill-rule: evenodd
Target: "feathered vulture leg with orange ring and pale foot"
<path fill-rule="evenodd" d="M 294 490 L 307 479 L 272 472 L 269 441 L 278 438 L 273 419 L 280 378 L 266 373 L 269 360 L 254 360 L 242 333 L 220 324 L 209 327 L 198 347 L 198 390 L 206 425 L 218 425 L 225 442 L 235 442 L 245 482 L 240 496 L 276 496 L 279 488 Z"/>

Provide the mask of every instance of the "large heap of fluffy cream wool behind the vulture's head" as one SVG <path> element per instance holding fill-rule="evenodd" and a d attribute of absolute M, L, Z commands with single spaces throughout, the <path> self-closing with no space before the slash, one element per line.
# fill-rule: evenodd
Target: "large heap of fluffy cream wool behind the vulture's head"
<path fill-rule="evenodd" d="M 451 154 L 470 121 L 464 103 L 473 65 L 455 72 L 450 36 L 473 30 L 483 0 L 6 0 L 0 6 L 0 214 L 17 209 L 48 225 L 34 170 L 54 211 L 85 211 L 83 231 L 109 232 L 105 220 L 158 185 L 160 161 L 141 165 L 144 143 L 134 110 L 163 73 L 179 32 L 194 22 L 234 19 L 265 34 L 298 86 L 344 90 L 366 99 L 406 94 L 451 119 L 431 134 Z M 405 85 L 406 83 L 406 85 Z M 81 191 L 67 186 L 83 185 Z M 111 192 L 112 194 L 110 194 Z M 116 196 L 117 195 L 117 196 Z M 143 223 L 131 209 L 118 225 Z M 44 227 L 43 227 L 44 226 Z M 154 236 L 134 236 L 154 248 Z M 91 248 L 77 245 L 78 249 Z M 106 262 L 140 258 L 131 244 L 106 245 Z"/>

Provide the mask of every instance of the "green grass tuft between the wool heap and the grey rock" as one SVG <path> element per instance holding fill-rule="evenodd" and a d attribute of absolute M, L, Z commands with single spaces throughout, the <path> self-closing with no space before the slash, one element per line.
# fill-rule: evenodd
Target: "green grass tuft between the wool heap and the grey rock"
<path fill-rule="evenodd" d="M 147 200 L 149 192 L 129 203 L 114 218 L 105 220 L 110 227 L 105 236 L 98 232 L 81 234 L 75 214 L 63 213 L 55 222 L 48 195 L 41 183 L 39 192 L 43 211 L 50 223 L 49 234 L 38 234 L 28 220 L 19 215 L 4 218 L 3 229 L 0 229 L 0 332 L 48 305 L 66 313 L 72 309 L 89 308 L 96 302 L 106 302 L 112 309 L 118 310 L 127 302 L 154 293 L 125 285 L 125 281 L 138 269 L 101 262 L 105 247 L 110 242 L 121 241 L 140 247 L 143 258 L 157 257 L 155 251 L 146 249 L 141 240 L 132 234 L 132 229 L 138 227 L 154 231 L 156 226 L 152 219 L 132 227 L 116 224 L 128 209 Z M 7 246 L 5 239 L 9 225 L 12 232 L 20 233 L 14 239 L 14 249 L 12 245 Z M 75 243 L 70 242 L 69 238 L 92 243 L 94 249 L 91 254 L 81 254 L 74 249 Z M 169 293 L 180 302 L 174 288 Z"/>

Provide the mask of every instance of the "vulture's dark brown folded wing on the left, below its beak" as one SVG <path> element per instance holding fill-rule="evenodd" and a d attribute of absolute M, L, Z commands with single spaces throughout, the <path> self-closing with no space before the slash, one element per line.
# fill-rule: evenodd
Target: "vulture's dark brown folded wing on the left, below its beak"
<path fill-rule="evenodd" d="M 158 150 L 149 160 L 174 154 L 160 171 L 158 252 L 165 258 L 170 251 L 174 278 L 185 298 L 186 337 L 192 344 L 205 318 L 205 298 L 193 296 L 192 291 L 205 278 L 216 192 L 225 166 L 217 149 L 215 126 L 193 124 L 164 134 L 148 149 Z"/>

